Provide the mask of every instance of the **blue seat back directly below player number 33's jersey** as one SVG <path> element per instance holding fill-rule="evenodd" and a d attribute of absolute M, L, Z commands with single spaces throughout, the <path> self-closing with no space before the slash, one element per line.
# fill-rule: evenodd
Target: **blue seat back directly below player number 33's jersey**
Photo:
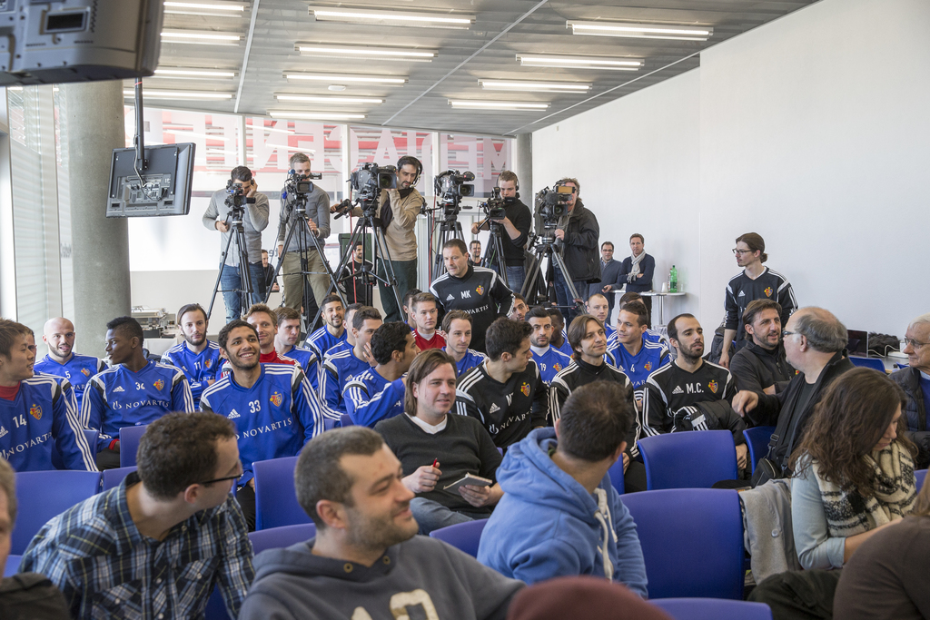
<path fill-rule="evenodd" d="M 294 468 L 297 456 L 252 463 L 255 472 L 255 529 L 311 523 L 297 503 Z"/>

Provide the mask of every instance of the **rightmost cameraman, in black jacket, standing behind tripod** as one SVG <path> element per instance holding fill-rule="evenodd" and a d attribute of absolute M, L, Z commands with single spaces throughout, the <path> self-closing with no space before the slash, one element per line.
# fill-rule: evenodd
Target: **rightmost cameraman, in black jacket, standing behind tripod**
<path fill-rule="evenodd" d="M 565 259 L 565 269 L 568 270 L 575 284 L 575 290 L 578 296 L 584 297 L 588 290 L 588 284 L 591 282 L 601 281 L 600 260 L 597 257 L 597 242 L 601 236 L 601 227 L 597 223 L 597 218 L 586 209 L 584 204 L 578 198 L 581 191 L 581 184 L 577 178 L 562 178 L 555 184 L 565 187 L 574 187 L 571 197 L 565 206 L 568 207 L 568 213 L 559 218 L 558 228 L 555 229 L 556 247 L 561 246 L 562 257 Z M 553 264 L 555 280 L 555 297 L 559 306 L 563 307 L 562 313 L 565 316 L 565 323 L 571 324 L 572 319 L 578 316 L 578 310 L 575 307 L 575 300 L 568 290 L 568 284 L 565 282 L 565 274 L 559 269 L 558 265 Z M 568 307 L 567 314 L 565 306 Z"/>

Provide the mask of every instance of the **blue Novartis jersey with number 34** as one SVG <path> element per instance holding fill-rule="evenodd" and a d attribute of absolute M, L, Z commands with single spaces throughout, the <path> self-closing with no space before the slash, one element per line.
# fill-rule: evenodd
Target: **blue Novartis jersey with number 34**
<path fill-rule="evenodd" d="M 84 392 L 90 429 L 100 429 L 97 449 L 119 439 L 123 427 L 151 424 L 173 411 L 193 412 L 191 387 L 175 366 L 149 362 L 134 373 L 116 364 L 90 379 Z"/>

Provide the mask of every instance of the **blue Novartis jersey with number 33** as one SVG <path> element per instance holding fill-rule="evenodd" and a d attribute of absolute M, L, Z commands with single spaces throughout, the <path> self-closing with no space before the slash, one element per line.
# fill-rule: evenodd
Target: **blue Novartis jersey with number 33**
<path fill-rule="evenodd" d="M 204 390 L 200 408 L 235 424 L 245 472 L 239 485 L 252 478 L 255 461 L 296 456 L 323 432 L 323 408 L 299 366 L 263 363 L 251 388 L 237 384 L 231 373 Z"/>

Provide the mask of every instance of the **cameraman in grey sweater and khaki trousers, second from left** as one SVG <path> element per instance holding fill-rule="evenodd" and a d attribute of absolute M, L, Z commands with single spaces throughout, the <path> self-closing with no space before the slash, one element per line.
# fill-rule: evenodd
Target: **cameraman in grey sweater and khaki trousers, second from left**
<path fill-rule="evenodd" d="M 287 165 L 300 180 L 310 178 L 310 157 L 302 152 L 296 152 L 287 160 Z M 329 196 L 319 185 L 312 183 L 312 191 L 307 194 L 307 228 L 310 229 L 313 236 L 317 239 L 325 240 L 329 236 Z M 281 266 L 281 272 L 284 274 L 282 280 L 285 284 L 285 306 L 300 311 L 303 306 L 303 270 L 300 268 L 300 245 L 306 250 L 307 270 L 312 273 L 308 274 L 310 285 L 313 289 L 313 300 L 316 302 L 316 309 L 304 308 L 306 316 L 316 317 L 316 310 L 319 304 L 326 297 L 326 291 L 329 289 L 329 277 L 326 275 L 326 266 L 324 266 L 324 257 L 316 251 L 313 240 L 304 231 L 302 227 L 298 228 L 291 236 L 290 243 L 285 247 L 285 239 L 289 229 L 297 224 L 294 220 L 294 207 L 297 198 L 293 191 L 287 192 L 287 188 L 281 190 L 281 218 L 278 223 L 278 256 L 285 257 L 284 265 Z M 286 196 L 286 197 L 285 197 Z"/>

